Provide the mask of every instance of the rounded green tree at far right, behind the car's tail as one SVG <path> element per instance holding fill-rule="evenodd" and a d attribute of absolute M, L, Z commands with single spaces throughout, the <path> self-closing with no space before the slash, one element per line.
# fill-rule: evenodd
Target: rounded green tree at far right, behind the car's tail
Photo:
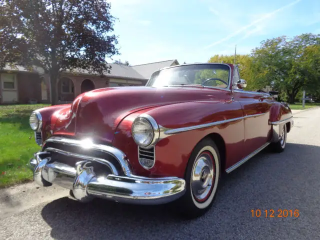
<path fill-rule="evenodd" d="M 251 54 L 256 81 L 285 92 L 289 102 L 294 103 L 301 87 L 316 84 L 317 78 L 307 70 L 309 62 L 304 59 L 306 49 L 319 44 L 320 34 L 311 33 L 301 34 L 292 39 L 281 36 L 262 41 Z"/>

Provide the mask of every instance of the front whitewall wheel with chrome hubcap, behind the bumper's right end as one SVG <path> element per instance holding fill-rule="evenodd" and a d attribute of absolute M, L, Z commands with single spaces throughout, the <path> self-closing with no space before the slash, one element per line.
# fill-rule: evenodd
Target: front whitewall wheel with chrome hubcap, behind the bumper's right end
<path fill-rule="evenodd" d="M 201 140 L 191 153 L 185 172 L 186 191 L 177 200 L 188 218 L 203 215 L 212 205 L 220 179 L 220 155 L 211 139 Z"/>

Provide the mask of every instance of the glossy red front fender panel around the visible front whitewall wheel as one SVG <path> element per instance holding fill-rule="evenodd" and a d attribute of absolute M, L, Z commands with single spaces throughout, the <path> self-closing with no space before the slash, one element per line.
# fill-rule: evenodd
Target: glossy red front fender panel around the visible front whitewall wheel
<path fill-rule="evenodd" d="M 230 95 L 226 91 L 226 97 Z M 151 115 L 164 128 L 175 129 L 215 121 L 235 120 L 194 130 L 165 135 L 155 146 L 155 164 L 146 170 L 138 163 L 137 145 L 131 137 L 131 123 L 141 113 Z M 243 117 L 236 101 L 212 100 L 177 103 L 135 112 L 119 124 L 112 144 L 120 148 L 129 159 L 132 170 L 139 175 L 184 176 L 184 170 L 195 145 L 210 133 L 219 134 L 225 141 L 225 168 L 239 161 L 244 155 Z"/>

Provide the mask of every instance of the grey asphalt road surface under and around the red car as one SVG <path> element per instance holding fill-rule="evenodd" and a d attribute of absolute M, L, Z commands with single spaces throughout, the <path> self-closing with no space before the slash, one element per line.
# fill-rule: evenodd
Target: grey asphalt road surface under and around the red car
<path fill-rule="evenodd" d="M 294 113 L 285 151 L 263 150 L 228 174 L 198 219 L 181 220 L 170 205 L 81 204 L 62 188 L 28 183 L 0 190 L 0 239 L 320 239 L 319 121 L 320 108 Z M 264 217 L 270 209 L 275 217 Z"/>

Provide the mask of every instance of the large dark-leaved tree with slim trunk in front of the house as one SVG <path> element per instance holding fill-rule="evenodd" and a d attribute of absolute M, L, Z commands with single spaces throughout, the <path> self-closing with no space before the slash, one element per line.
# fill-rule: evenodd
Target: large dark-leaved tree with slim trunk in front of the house
<path fill-rule="evenodd" d="M 105 0 L 0 0 L 0 68 L 41 67 L 50 75 L 52 104 L 60 72 L 103 75 L 114 46 L 115 18 Z"/>

